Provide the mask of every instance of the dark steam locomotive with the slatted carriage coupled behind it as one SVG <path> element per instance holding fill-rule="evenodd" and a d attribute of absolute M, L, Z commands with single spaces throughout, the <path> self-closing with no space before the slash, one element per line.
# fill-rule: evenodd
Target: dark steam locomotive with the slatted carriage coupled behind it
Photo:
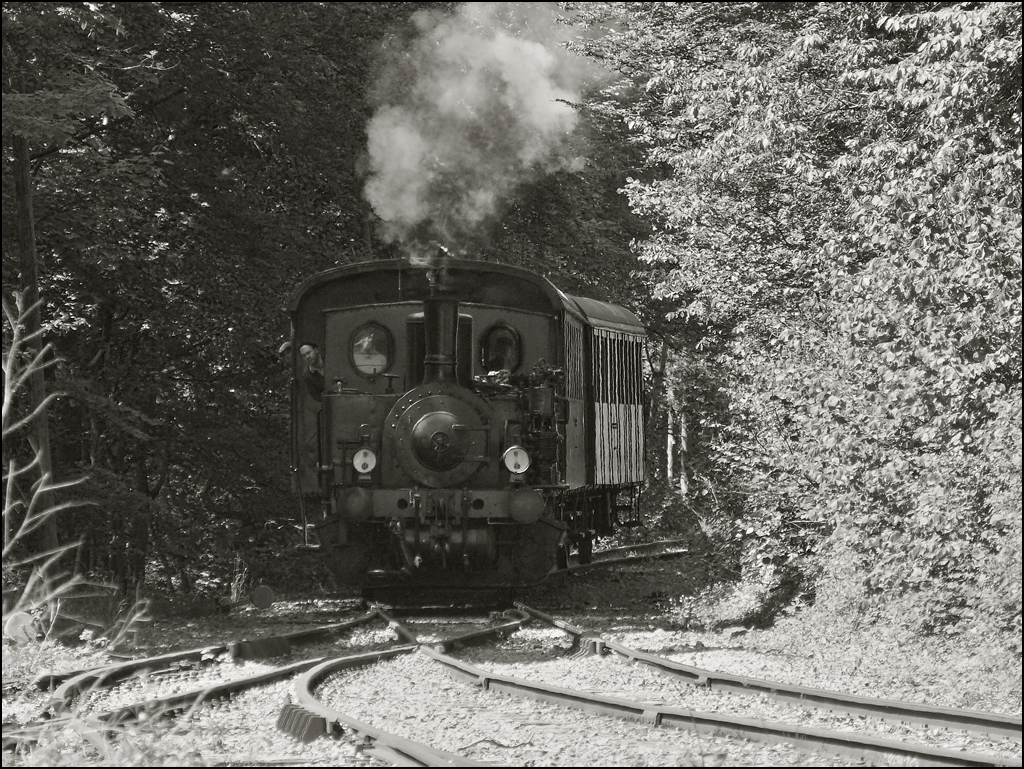
<path fill-rule="evenodd" d="M 339 583 L 534 584 L 638 518 L 630 311 L 443 251 L 313 275 L 289 311 L 294 487 Z"/>

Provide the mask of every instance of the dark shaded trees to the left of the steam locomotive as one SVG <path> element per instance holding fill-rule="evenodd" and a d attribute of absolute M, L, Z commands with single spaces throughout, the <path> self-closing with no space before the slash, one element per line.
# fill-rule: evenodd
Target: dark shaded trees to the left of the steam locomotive
<path fill-rule="evenodd" d="M 5 132 L 38 129 L 55 456 L 99 503 L 62 520 L 82 568 L 139 581 L 151 548 L 191 568 L 204 541 L 229 559 L 290 517 L 281 306 L 372 253 L 361 94 L 380 27 L 409 12 L 4 5 L 4 71 L 29 84 L 5 81 Z"/>

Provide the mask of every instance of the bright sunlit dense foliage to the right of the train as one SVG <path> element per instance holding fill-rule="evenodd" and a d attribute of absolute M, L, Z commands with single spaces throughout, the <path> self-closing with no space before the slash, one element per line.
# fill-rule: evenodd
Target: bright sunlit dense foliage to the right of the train
<path fill-rule="evenodd" d="M 1020 4 L 607 12 L 698 508 L 854 608 L 1019 631 Z"/>

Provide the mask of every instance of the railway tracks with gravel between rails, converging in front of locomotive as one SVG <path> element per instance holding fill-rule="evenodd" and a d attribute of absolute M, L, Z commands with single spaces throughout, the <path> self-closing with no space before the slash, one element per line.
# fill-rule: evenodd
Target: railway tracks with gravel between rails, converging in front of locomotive
<path fill-rule="evenodd" d="M 853 758 L 890 765 L 1021 765 L 1019 718 L 701 670 L 632 649 L 521 603 L 503 615 L 474 620 L 441 612 L 398 618 L 396 612 L 376 608 L 345 622 L 266 639 L 47 674 L 36 685 L 52 691 L 51 718 L 16 728 L 5 725 L 4 745 L 31 744 L 42 730 L 72 719 L 99 732 L 161 716 L 184 715 L 195 723 L 201 711 L 203 718 L 216 720 L 216 708 L 211 716 L 209 708 L 203 710 L 206 706 L 255 690 L 279 703 L 288 692 L 288 701 L 278 706 L 276 726 L 300 744 L 319 743 L 323 737 L 341 740 L 353 746 L 354 760 L 364 764 L 602 761 L 594 757 L 595 745 L 565 753 L 570 750 L 566 742 L 575 745 L 581 735 L 589 735 L 606 740 L 609 747 L 633 740 L 647 751 L 639 760 L 648 764 L 687 759 L 811 766 L 816 765 L 814 757 L 831 756 L 840 762 Z M 515 634 L 521 638 L 523 629 L 528 637 L 516 642 Z M 349 636 L 356 632 L 373 634 L 373 642 L 353 642 Z M 548 640 L 530 640 L 541 636 Z M 519 645 L 502 650 L 503 644 L 513 643 Z M 299 653 L 305 658 L 281 664 L 280 657 Z M 518 661 L 509 663 L 510 656 Z M 655 687 L 651 675 L 675 688 Z M 294 681 L 288 685 L 287 679 Z M 368 686 L 372 698 L 366 695 Z M 420 699 L 407 699 L 417 691 Z M 697 704 L 711 695 L 724 699 L 712 709 Z M 763 704 L 758 706 L 760 715 L 736 715 L 755 697 L 758 702 L 770 698 L 769 706 L 780 708 L 781 715 L 766 719 Z M 809 725 L 799 715 L 808 711 L 833 714 L 830 723 L 843 715 L 850 728 Z M 410 714 L 415 714 L 412 724 Z M 413 727 L 421 721 L 417 731 Z M 899 738 L 876 722 L 891 725 Z M 532 731 L 524 735 L 520 724 Z M 991 741 L 972 737 L 972 744 L 984 750 L 961 750 L 950 746 L 951 733 L 986 735 Z M 752 743 L 782 753 L 743 758 Z"/>

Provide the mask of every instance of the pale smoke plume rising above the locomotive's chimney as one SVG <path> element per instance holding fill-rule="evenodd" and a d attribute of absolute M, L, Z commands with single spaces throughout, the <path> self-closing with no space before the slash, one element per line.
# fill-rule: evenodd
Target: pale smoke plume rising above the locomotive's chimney
<path fill-rule="evenodd" d="M 387 241 L 464 253 L 516 186 L 582 167 L 572 104 L 594 72 L 558 44 L 556 18 L 554 4 L 467 3 L 419 11 L 415 35 L 391 41 L 364 190 Z"/>

